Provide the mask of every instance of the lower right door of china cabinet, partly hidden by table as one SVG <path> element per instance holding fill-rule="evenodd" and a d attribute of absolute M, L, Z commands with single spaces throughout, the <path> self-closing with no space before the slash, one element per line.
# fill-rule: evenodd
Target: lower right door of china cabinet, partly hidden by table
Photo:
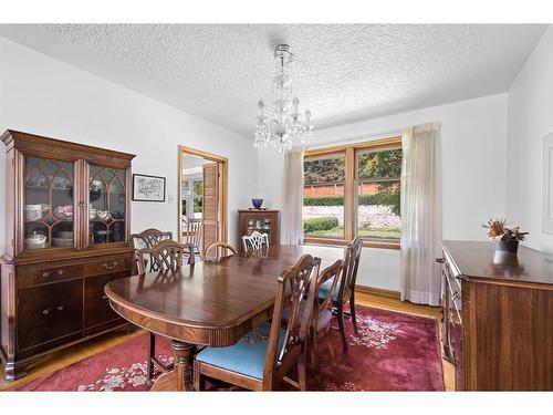
<path fill-rule="evenodd" d="M 117 319 L 104 293 L 104 286 L 109 281 L 129 276 L 129 271 L 114 272 L 84 280 L 84 326 L 91 328 Z"/>

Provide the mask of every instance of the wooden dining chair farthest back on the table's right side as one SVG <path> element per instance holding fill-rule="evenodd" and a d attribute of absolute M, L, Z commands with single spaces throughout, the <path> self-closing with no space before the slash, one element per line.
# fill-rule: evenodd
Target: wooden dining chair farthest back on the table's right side
<path fill-rule="evenodd" d="M 342 346 L 344 352 L 347 352 L 347 340 L 344 326 L 344 305 L 349 302 L 349 315 L 353 323 L 355 334 L 357 331 L 357 319 L 355 315 L 355 281 L 357 279 L 357 269 L 359 267 L 361 250 L 363 248 L 363 239 L 356 237 L 346 249 L 344 267 L 342 269 L 342 278 L 337 282 L 333 297 L 333 307 L 336 309 L 336 318 L 338 320 L 338 330 L 342 335 Z M 330 292 L 332 281 L 323 283 L 319 290 L 319 299 L 324 300 Z"/>

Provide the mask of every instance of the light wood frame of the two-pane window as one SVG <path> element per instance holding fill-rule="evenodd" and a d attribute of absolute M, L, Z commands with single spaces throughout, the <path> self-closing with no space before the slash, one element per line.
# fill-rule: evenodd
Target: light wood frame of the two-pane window
<path fill-rule="evenodd" d="M 377 149 L 394 149 L 401 148 L 401 137 L 382 138 L 363 143 L 344 144 L 332 147 L 321 147 L 306 149 L 304 159 L 331 156 L 335 154 L 345 154 L 345 181 L 344 181 L 344 238 L 322 238 L 322 237 L 304 237 L 305 243 L 321 245 L 342 245 L 349 243 L 357 234 L 356 217 L 357 204 L 356 196 L 356 162 L 357 153 Z M 303 218 L 302 218 L 303 222 Z M 363 246 L 367 248 L 383 249 L 400 249 L 400 240 L 364 240 Z"/>

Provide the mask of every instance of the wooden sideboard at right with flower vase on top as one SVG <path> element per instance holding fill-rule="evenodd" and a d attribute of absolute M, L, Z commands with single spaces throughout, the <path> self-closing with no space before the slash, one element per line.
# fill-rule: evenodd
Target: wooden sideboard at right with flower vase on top
<path fill-rule="evenodd" d="M 442 245 L 442 342 L 458 391 L 553 390 L 553 257 Z"/>

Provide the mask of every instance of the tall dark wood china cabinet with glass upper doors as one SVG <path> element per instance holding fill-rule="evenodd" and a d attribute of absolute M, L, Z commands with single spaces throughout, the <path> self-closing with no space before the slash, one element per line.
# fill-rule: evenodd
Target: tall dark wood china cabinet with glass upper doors
<path fill-rule="evenodd" d="M 0 340 L 13 381 L 48 353 L 126 325 L 104 286 L 128 277 L 134 155 L 7 131 Z"/>

